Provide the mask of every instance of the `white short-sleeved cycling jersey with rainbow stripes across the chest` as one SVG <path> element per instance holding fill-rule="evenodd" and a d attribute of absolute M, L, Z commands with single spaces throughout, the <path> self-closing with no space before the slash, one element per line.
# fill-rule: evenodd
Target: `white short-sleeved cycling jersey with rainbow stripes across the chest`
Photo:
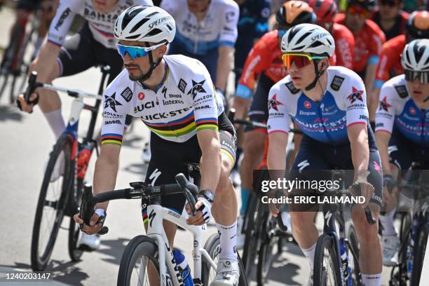
<path fill-rule="evenodd" d="M 102 144 L 121 145 L 125 116 L 139 117 L 163 139 L 185 142 L 198 130 L 217 130 L 224 111 L 212 79 L 198 60 L 165 55 L 165 78 L 156 91 L 131 81 L 124 69 L 104 93 Z"/>

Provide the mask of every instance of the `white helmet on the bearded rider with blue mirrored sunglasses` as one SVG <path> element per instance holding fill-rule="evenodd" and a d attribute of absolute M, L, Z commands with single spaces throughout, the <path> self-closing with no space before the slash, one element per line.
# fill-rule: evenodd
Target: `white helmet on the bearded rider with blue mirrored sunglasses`
<path fill-rule="evenodd" d="M 171 43 L 175 34 L 175 19 L 156 6 L 127 8 L 116 19 L 114 27 L 115 38 L 125 41 Z"/>

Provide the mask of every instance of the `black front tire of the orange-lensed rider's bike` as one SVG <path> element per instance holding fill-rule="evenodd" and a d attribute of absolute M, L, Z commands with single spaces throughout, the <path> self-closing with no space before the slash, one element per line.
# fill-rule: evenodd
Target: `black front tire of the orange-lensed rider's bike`
<path fill-rule="evenodd" d="M 313 285 L 314 286 L 327 286 L 327 281 L 325 281 L 325 273 L 323 271 L 323 262 L 325 257 L 325 251 L 329 253 L 330 263 L 332 264 L 332 271 L 334 274 L 333 284 L 330 285 L 342 285 L 340 268 L 338 264 L 338 254 L 336 253 L 336 248 L 334 245 L 334 239 L 326 233 L 323 233 L 322 236 L 318 238 L 316 244 L 315 256 L 314 256 L 314 272 L 313 272 Z M 326 273 L 326 278 L 328 274 Z"/>

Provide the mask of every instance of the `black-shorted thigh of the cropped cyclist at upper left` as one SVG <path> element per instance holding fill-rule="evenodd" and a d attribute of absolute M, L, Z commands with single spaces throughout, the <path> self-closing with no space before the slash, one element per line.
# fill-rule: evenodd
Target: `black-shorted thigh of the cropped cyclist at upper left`
<path fill-rule="evenodd" d="M 71 76 L 95 66 L 95 53 L 92 46 L 92 34 L 88 23 L 78 34 L 67 37 L 58 55 L 59 76 Z"/>

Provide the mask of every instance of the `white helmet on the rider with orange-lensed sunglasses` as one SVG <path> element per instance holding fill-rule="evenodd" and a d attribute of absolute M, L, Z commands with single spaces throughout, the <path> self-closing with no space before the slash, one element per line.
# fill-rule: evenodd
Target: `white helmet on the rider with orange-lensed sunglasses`
<path fill-rule="evenodd" d="M 327 30 L 314 24 L 299 24 L 287 30 L 282 38 L 282 53 L 311 53 L 332 57 L 335 43 Z"/>

